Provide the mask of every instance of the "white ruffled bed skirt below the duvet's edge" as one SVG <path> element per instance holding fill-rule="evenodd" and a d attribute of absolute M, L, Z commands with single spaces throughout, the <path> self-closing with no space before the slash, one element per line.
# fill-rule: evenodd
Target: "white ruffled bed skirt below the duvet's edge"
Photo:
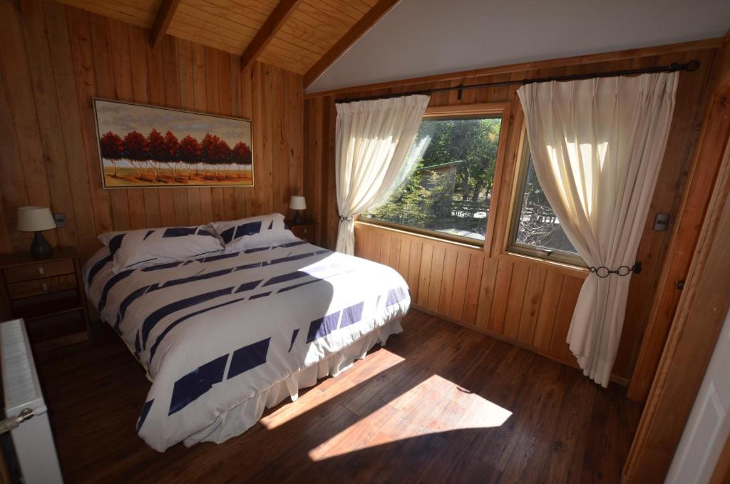
<path fill-rule="evenodd" d="M 285 380 L 270 386 L 266 391 L 221 413 L 210 426 L 191 435 L 183 443 L 186 447 L 191 447 L 198 442 L 216 442 L 220 444 L 232 437 L 239 436 L 253 427 L 261 419 L 261 415 L 264 415 L 264 410 L 267 408 L 277 406 L 287 397 L 291 398 L 292 402 L 296 401 L 301 388 L 314 386 L 317 384 L 317 380 L 328 375 L 337 377 L 338 374 L 353 366 L 356 360 L 365 358 L 367 352 L 374 345 L 380 343 L 380 345 L 385 346 L 388 337 L 392 334 L 399 334 L 401 331 L 403 329 L 401 328 L 400 318 L 378 327 L 353 342 L 352 345 L 333 353 L 317 364 L 292 374 Z"/>

